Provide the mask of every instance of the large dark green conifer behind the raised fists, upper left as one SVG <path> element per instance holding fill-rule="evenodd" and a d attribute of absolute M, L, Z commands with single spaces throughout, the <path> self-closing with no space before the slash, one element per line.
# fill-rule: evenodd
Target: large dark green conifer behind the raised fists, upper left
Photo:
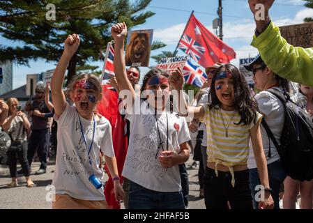
<path fill-rule="evenodd" d="M 100 50 L 112 40 L 110 27 L 125 22 L 128 29 L 144 24 L 155 13 L 144 11 L 151 0 L 15 0 L 0 1 L 0 34 L 3 38 L 22 43 L 22 46 L 0 45 L 0 61 L 13 60 L 29 66 L 31 59 L 59 61 L 63 41 L 77 33 L 82 43 L 68 65 L 68 82 L 82 68 L 99 59 Z M 46 8 L 47 4 L 55 6 Z M 51 6 L 51 5 L 48 5 Z M 47 20 L 48 18 L 48 20 Z M 153 46 L 162 47 L 157 42 Z"/>

